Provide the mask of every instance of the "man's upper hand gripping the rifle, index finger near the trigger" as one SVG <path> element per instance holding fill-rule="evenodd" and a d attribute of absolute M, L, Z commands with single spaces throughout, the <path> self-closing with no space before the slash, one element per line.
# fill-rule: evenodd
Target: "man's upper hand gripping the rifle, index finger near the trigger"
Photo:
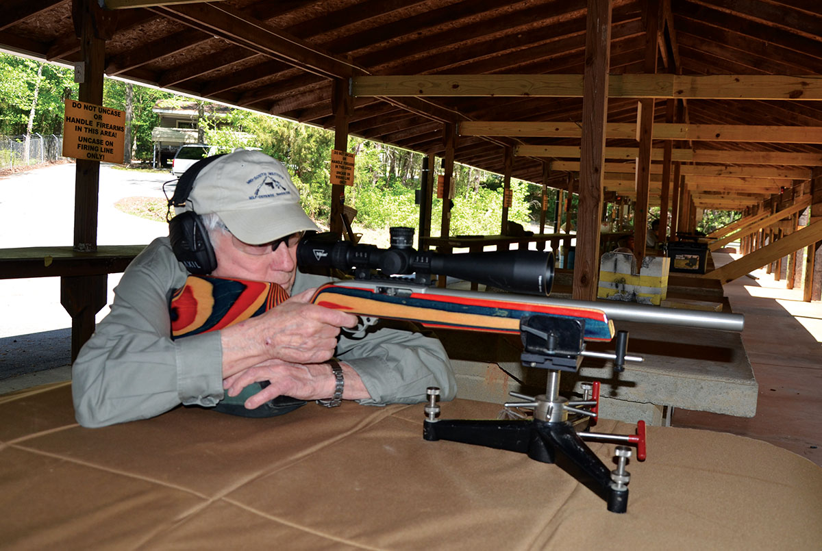
<path fill-rule="evenodd" d="M 224 378 L 265 360 L 308 365 L 334 356 L 339 328 L 354 327 L 357 316 L 310 304 L 315 291 L 307 289 L 265 314 L 224 328 Z"/>

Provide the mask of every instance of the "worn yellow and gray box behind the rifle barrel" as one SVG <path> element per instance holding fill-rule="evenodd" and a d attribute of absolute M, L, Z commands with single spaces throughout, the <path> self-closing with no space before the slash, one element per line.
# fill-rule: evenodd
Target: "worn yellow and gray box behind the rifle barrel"
<path fill-rule="evenodd" d="M 667 278 L 671 259 L 646 256 L 642 269 L 636 269 L 636 258 L 626 253 L 605 253 L 599 260 L 597 296 L 610 301 L 639 302 L 659 305 L 667 296 Z"/>

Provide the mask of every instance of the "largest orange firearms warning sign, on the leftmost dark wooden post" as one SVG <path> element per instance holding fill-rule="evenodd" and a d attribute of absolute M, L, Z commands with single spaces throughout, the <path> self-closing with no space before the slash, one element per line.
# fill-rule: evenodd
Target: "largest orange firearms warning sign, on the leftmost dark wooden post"
<path fill-rule="evenodd" d="M 122 163 L 126 113 L 93 103 L 66 100 L 62 156 Z"/>

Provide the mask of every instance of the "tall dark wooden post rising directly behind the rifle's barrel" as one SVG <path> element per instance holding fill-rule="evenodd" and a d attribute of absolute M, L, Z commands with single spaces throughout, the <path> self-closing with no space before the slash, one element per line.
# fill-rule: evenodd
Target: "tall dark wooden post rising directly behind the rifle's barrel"
<path fill-rule="evenodd" d="M 595 301 L 599 282 L 599 218 L 611 63 L 612 0 L 588 0 L 573 297 Z"/>

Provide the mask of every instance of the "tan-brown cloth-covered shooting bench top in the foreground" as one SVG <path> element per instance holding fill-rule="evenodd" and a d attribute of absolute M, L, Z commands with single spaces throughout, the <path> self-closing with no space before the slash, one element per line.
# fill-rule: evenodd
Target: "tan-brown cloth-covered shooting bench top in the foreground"
<path fill-rule="evenodd" d="M 499 406 L 441 402 L 442 419 Z M 818 549 L 822 468 L 772 444 L 649 427 L 625 514 L 557 465 L 423 439 L 423 407 L 269 419 L 178 407 L 84 429 L 70 383 L 0 397 L 4 549 Z M 635 425 L 600 420 L 600 432 Z M 613 444 L 591 442 L 615 468 Z"/>

